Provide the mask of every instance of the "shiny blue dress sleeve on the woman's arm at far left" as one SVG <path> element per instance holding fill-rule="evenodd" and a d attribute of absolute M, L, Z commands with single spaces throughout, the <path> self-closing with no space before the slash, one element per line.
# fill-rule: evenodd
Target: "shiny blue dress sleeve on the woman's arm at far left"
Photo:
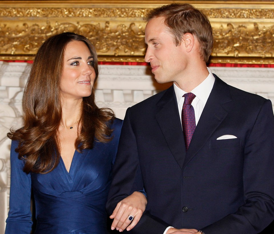
<path fill-rule="evenodd" d="M 24 161 L 15 152 L 18 142 L 11 143 L 11 189 L 9 214 L 5 234 L 29 234 L 31 232 L 31 177 L 23 172 Z"/>

